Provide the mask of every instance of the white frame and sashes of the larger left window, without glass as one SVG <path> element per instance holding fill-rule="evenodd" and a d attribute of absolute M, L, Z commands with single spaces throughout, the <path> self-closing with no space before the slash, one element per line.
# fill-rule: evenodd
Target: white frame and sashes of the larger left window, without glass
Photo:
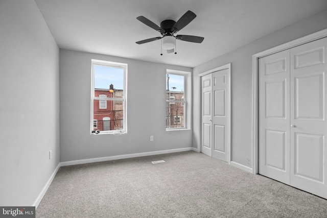
<path fill-rule="evenodd" d="M 123 85 L 123 98 L 110 98 L 110 97 L 95 97 L 95 66 L 104 66 L 104 67 L 111 67 L 111 68 L 120 68 L 124 70 L 124 85 Z M 90 134 L 91 135 L 101 135 L 101 134 L 114 134 L 114 135 L 120 135 L 120 134 L 126 134 L 127 133 L 127 69 L 128 64 L 126 63 L 119 63 L 119 62 L 112 62 L 112 61 L 104 61 L 104 60 L 97 60 L 97 59 L 91 59 L 91 98 L 90 98 Z M 107 130 L 107 131 L 100 131 L 99 134 L 92 133 L 94 131 L 94 101 L 99 100 L 99 109 L 100 108 L 100 101 L 105 100 L 106 105 L 107 101 L 121 101 L 123 102 L 123 129 L 121 130 Z M 97 122 L 98 123 L 98 122 Z"/>

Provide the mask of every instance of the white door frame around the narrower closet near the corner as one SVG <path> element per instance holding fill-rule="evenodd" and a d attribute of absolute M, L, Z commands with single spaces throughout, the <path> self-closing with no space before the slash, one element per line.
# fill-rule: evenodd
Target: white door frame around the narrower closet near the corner
<path fill-rule="evenodd" d="M 202 85 L 201 85 L 201 78 L 203 77 L 203 76 L 205 76 L 205 75 L 208 75 L 208 74 L 211 74 L 211 73 L 213 73 L 213 72 L 216 72 L 216 71 L 219 71 L 219 70 L 224 70 L 224 69 L 229 69 L 229 71 L 228 71 L 228 74 L 229 74 L 229 84 L 228 84 L 228 91 L 229 91 L 229 117 L 227 118 L 227 122 L 228 122 L 228 126 L 229 126 L 229 128 L 228 128 L 228 138 L 227 138 L 227 141 L 228 141 L 228 144 L 227 144 L 227 150 L 228 150 L 228 157 L 227 157 L 227 163 L 228 164 L 230 164 L 230 157 L 231 157 L 231 140 L 230 140 L 230 138 L 231 138 L 231 126 L 230 126 L 230 124 L 231 124 L 231 122 L 230 122 L 230 120 L 231 120 L 231 92 L 230 92 L 230 90 L 231 90 L 231 87 L 230 87 L 230 84 L 231 84 L 231 63 L 228 63 L 228 64 L 225 64 L 225 65 L 222 65 L 222 66 L 219 66 L 219 67 L 216 67 L 216 68 L 214 68 L 214 69 L 211 69 L 211 70 L 208 70 L 208 71 L 205 71 L 205 72 L 201 72 L 201 74 L 198 74 L 198 87 L 199 87 L 199 89 L 198 89 L 198 96 L 199 96 L 199 99 L 198 99 L 198 111 L 199 111 L 199 113 L 198 113 L 198 134 L 199 134 L 199 137 L 198 137 L 198 145 L 199 145 L 199 148 L 198 148 L 198 152 L 201 152 L 201 140 L 202 140 L 202 136 L 201 136 L 201 122 L 202 122 L 202 120 L 201 120 L 201 96 L 202 96 L 202 94 L 201 94 L 201 88 L 202 88 Z"/>

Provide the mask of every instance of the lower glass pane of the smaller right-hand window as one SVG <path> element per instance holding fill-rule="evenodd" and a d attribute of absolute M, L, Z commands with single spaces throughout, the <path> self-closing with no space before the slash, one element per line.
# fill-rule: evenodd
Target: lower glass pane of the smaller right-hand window
<path fill-rule="evenodd" d="M 166 103 L 166 128 L 184 127 L 184 105 L 181 102 L 175 104 Z"/>

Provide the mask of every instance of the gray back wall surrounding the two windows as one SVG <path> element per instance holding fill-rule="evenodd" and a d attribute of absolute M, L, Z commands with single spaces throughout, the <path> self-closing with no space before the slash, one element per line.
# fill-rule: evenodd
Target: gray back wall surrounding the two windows
<path fill-rule="evenodd" d="M 91 59 L 128 64 L 125 135 L 90 135 Z M 188 67 L 60 50 L 60 160 L 192 147 L 191 130 L 166 131 L 167 68 L 192 71 Z M 150 135 L 154 141 L 150 141 Z"/>

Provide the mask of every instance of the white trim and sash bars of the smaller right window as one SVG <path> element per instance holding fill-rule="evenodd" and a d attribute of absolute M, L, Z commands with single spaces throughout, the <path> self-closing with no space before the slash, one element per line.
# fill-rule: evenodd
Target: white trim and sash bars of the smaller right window
<path fill-rule="evenodd" d="M 191 130 L 192 125 L 192 74 L 189 71 L 181 71 L 181 70 L 174 70 L 174 69 L 167 69 L 167 74 L 175 74 L 185 76 L 184 80 L 184 101 L 174 100 L 174 102 L 181 102 L 184 106 L 184 127 L 182 128 L 166 128 L 166 131 L 179 131 L 179 130 Z M 166 98 L 165 92 L 165 98 Z M 172 102 L 172 100 L 167 100 L 166 102 Z"/>

